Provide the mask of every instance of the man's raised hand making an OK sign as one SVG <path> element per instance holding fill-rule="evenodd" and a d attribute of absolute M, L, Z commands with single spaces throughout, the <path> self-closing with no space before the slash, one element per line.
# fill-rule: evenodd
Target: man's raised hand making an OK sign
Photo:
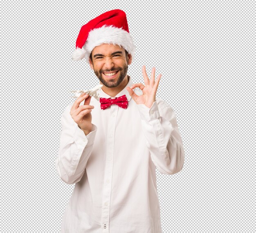
<path fill-rule="evenodd" d="M 132 99 L 136 102 L 136 104 L 145 104 L 146 107 L 150 108 L 152 104 L 155 102 L 155 96 L 157 93 L 158 84 L 160 81 L 160 78 L 162 74 L 159 74 L 157 76 L 157 80 L 155 81 L 155 67 L 153 67 L 151 71 L 151 77 L 150 80 L 148 78 L 148 75 L 146 73 L 146 66 L 142 66 L 142 73 L 144 77 L 145 85 L 142 83 L 135 83 L 131 87 L 127 87 L 127 91 L 129 95 L 132 97 Z M 136 95 L 132 89 L 135 87 L 139 87 L 142 91 L 142 95 Z"/>

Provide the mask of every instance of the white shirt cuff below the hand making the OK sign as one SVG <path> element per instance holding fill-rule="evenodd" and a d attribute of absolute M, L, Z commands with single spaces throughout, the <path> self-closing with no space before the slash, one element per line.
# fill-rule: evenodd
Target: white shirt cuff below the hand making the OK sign
<path fill-rule="evenodd" d="M 153 102 L 152 106 L 148 108 L 145 104 L 137 104 L 142 120 L 151 121 L 160 117 L 157 101 Z"/>

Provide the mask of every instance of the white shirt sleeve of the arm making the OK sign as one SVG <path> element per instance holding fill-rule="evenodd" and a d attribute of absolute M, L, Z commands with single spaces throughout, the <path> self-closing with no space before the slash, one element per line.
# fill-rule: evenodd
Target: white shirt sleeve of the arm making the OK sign
<path fill-rule="evenodd" d="M 150 108 L 144 104 L 137 107 L 151 160 L 160 173 L 172 175 L 182 170 L 184 148 L 175 112 L 167 103 L 159 105 L 160 111 L 157 100 Z"/>

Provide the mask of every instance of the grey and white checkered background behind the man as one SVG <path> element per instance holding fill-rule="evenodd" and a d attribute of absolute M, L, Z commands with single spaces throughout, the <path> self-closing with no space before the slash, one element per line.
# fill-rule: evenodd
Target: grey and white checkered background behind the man
<path fill-rule="evenodd" d="M 69 90 L 98 84 L 71 54 L 111 9 L 136 45 L 128 74 L 162 73 L 182 135 L 183 170 L 156 169 L 163 232 L 255 231 L 255 1 L 231 0 L 2 1 L 0 231 L 59 232 L 74 189 L 55 170 L 61 114 Z"/>

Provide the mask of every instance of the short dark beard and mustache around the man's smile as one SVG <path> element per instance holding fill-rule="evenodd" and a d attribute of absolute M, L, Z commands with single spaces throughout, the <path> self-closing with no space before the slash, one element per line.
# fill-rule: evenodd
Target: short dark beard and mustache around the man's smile
<path fill-rule="evenodd" d="M 125 78 L 125 76 L 126 76 L 126 74 L 127 74 L 127 70 L 128 70 L 128 65 L 124 65 L 124 67 L 120 67 L 119 69 L 117 69 L 117 68 L 112 68 L 111 70 L 109 70 L 109 71 L 106 71 L 106 72 L 110 72 L 110 71 L 119 71 L 118 72 L 118 78 L 117 78 L 117 80 L 116 80 L 116 78 L 113 78 L 113 79 L 109 79 L 109 80 L 105 80 L 103 77 L 102 77 L 102 70 L 99 70 L 99 71 L 97 71 L 97 70 L 94 70 L 94 73 L 95 73 L 95 75 L 97 76 L 97 78 L 101 81 L 101 83 L 104 85 L 104 86 L 106 86 L 106 87 L 117 87 L 117 86 L 119 86 L 119 84 L 121 83 L 121 82 L 123 82 L 123 80 L 124 80 L 124 78 Z"/>

